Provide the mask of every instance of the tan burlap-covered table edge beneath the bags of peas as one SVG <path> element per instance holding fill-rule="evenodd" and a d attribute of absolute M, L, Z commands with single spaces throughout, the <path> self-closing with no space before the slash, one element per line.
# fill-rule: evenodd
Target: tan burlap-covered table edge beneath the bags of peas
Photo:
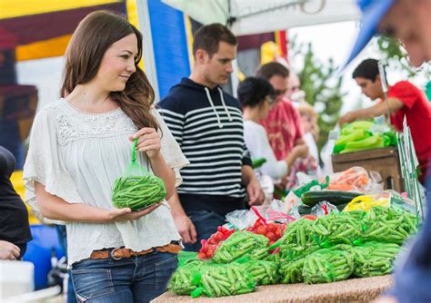
<path fill-rule="evenodd" d="M 301 283 L 260 286 L 256 289 L 256 292 L 250 294 L 223 298 L 191 298 L 187 296 L 176 296 L 171 292 L 166 292 L 151 302 L 369 302 L 389 288 L 392 282 L 392 276 L 387 275 L 372 278 L 347 279 L 340 282 L 315 285 Z"/>

